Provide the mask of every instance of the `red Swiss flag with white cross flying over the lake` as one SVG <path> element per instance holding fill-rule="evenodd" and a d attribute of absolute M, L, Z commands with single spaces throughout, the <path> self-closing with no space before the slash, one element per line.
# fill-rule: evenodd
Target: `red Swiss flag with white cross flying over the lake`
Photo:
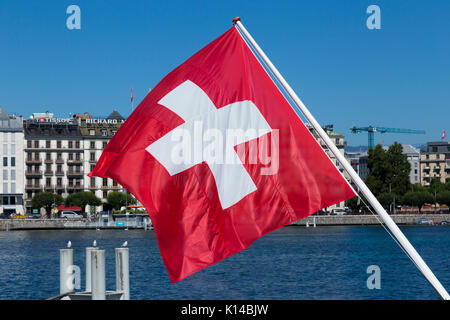
<path fill-rule="evenodd" d="M 355 196 L 235 27 L 145 97 L 89 176 L 147 208 L 172 282 Z"/>

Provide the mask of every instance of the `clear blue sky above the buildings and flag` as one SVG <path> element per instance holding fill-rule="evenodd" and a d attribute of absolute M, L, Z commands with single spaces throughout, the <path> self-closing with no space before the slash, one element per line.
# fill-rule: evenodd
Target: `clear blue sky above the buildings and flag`
<path fill-rule="evenodd" d="M 81 30 L 66 8 L 81 8 Z M 366 8 L 381 8 L 369 30 Z M 322 125 L 349 145 L 353 125 L 450 134 L 450 3 L 444 1 L 0 0 L 0 105 L 28 117 L 130 113 L 167 73 L 242 22 Z"/>

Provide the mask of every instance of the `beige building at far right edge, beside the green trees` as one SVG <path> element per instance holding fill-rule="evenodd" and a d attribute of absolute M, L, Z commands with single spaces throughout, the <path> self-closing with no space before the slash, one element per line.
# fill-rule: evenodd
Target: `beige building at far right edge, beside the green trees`
<path fill-rule="evenodd" d="M 442 183 L 450 180 L 450 143 L 428 142 L 427 151 L 420 155 L 421 184 L 429 186 L 432 179 Z"/>

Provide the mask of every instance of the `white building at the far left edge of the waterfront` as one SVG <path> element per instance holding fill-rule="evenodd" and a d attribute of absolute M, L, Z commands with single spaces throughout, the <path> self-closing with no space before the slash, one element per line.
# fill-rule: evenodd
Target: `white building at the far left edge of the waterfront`
<path fill-rule="evenodd" d="M 0 107 L 0 214 L 24 214 L 23 118 Z"/>

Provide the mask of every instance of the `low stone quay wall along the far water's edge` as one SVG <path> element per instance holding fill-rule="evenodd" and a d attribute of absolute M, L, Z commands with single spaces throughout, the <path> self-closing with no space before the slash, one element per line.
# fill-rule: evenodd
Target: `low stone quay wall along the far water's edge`
<path fill-rule="evenodd" d="M 391 215 L 397 225 L 430 225 L 447 222 L 450 224 L 450 214 L 397 214 Z M 288 226 L 365 226 L 381 225 L 378 216 L 374 215 L 320 215 L 309 216 L 291 223 Z M 427 222 L 419 223 L 424 219 Z M 145 229 L 141 225 L 93 225 L 86 220 L 66 219 L 0 219 L 0 231 L 23 230 L 125 230 Z M 150 230 L 153 228 L 149 226 Z"/>

